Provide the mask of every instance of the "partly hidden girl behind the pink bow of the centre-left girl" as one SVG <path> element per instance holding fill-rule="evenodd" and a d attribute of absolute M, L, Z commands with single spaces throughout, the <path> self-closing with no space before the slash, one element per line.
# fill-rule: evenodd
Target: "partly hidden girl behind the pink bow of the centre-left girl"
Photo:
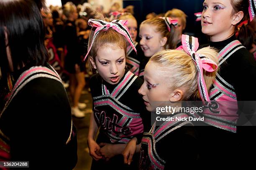
<path fill-rule="evenodd" d="M 127 57 L 126 57 L 126 65 L 128 69 L 133 72 L 135 75 L 139 75 L 139 67 L 141 63 L 141 59 L 144 57 L 144 54 L 141 50 L 140 44 L 136 42 L 137 37 L 137 21 L 131 13 L 123 13 L 118 17 L 119 20 L 127 20 L 127 28 L 129 29 L 131 38 L 136 47 L 137 53 L 133 50 L 131 45 L 127 47 Z"/>

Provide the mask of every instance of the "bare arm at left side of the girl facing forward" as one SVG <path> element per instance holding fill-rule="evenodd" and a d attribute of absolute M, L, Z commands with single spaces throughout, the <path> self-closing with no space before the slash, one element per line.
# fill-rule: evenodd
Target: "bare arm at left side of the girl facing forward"
<path fill-rule="evenodd" d="M 90 155 L 95 160 L 99 160 L 102 158 L 101 155 L 97 154 L 98 151 L 100 150 L 100 146 L 95 141 L 95 135 L 97 133 L 97 130 L 98 130 L 98 126 L 95 122 L 94 115 L 92 112 L 91 118 L 90 118 L 90 127 L 89 127 L 87 143 L 90 150 Z"/>

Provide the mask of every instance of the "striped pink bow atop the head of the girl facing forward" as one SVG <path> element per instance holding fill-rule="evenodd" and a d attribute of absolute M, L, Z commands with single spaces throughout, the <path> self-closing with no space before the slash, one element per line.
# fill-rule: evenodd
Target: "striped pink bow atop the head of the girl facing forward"
<path fill-rule="evenodd" d="M 95 19 L 89 19 L 88 25 L 91 27 L 95 27 L 96 30 L 94 32 L 94 35 L 92 37 L 92 42 L 90 45 L 90 48 L 88 49 L 87 54 L 84 57 L 84 60 L 86 59 L 87 55 L 90 53 L 90 50 L 92 48 L 92 44 L 94 43 L 95 38 L 99 34 L 100 31 L 106 31 L 109 28 L 113 28 L 115 31 L 122 34 L 130 43 L 131 47 L 133 47 L 133 50 L 137 52 L 135 45 L 133 44 L 133 40 L 131 39 L 131 35 L 129 34 L 128 28 L 125 26 L 127 23 L 127 20 L 113 20 L 112 22 L 107 22 L 103 20 L 95 20 Z"/>

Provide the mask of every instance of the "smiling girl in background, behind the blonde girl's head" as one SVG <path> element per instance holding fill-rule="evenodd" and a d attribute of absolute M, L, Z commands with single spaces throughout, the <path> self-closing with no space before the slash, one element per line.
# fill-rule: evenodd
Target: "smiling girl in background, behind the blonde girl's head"
<path fill-rule="evenodd" d="M 177 20 L 171 18 L 150 18 L 140 25 L 140 45 L 145 57 L 141 61 L 139 77 L 143 78 L 144 68 L 156 52 L 174 49 L 177 45 Z"/>

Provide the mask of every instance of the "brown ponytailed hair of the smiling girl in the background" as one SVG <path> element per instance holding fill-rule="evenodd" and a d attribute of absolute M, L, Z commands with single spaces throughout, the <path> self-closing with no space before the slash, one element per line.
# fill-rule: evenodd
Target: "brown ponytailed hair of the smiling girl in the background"
<path fill-rule="evenodd" d="M 152 25 L 156 32 L 159 32 L 162 37 L 167 38 L 167 42 L 164 45 L 165 49 L 175 49 L 177 47 L 178 35 L 176 29 L 172 25 L 171 31 L 169 32 L 165 21 L 161 18 L 150 18 L 144 20 L 142 24 Z"/>

